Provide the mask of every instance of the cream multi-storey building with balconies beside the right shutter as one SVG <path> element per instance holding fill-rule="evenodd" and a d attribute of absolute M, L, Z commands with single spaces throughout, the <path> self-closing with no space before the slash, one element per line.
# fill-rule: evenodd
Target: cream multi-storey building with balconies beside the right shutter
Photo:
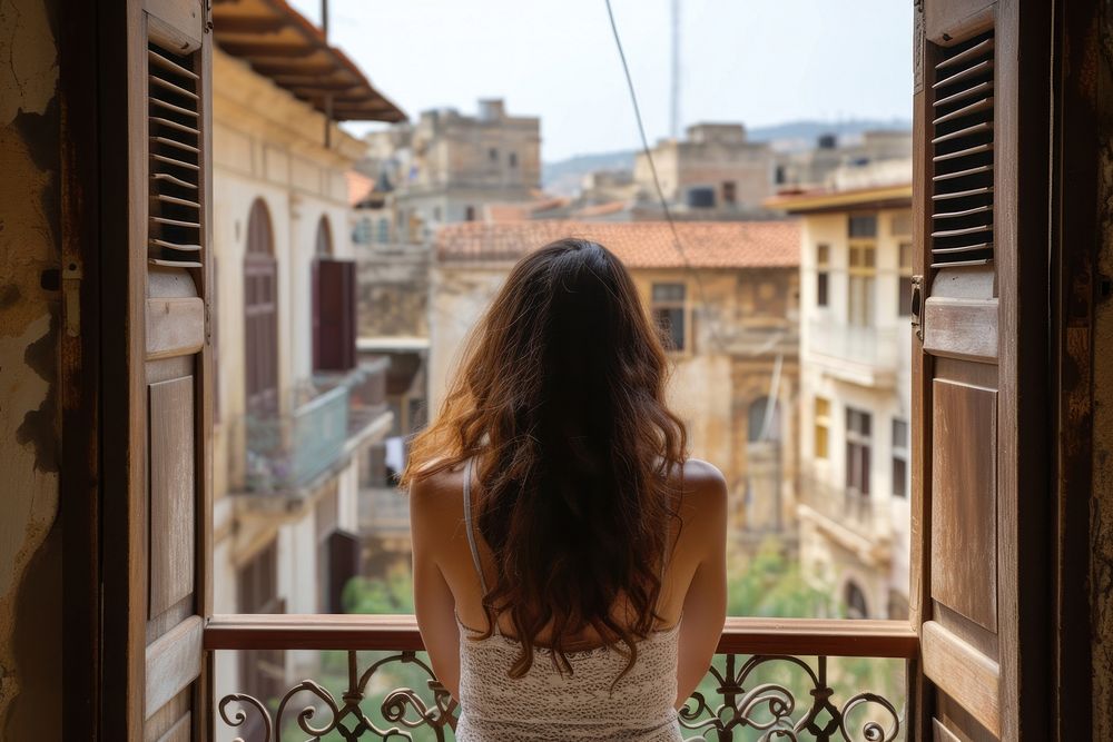
<path fill-rule="evenodd" d="M 864 619 L 907 616 L 910 544 L 912 186 L 874 175 L 770 202 L 802 217 L 804 574 Z"/>

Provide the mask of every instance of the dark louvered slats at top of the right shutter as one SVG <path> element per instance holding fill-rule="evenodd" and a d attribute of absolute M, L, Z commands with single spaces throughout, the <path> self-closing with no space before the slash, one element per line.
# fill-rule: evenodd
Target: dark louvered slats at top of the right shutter
<path fill-rule="evenodd" d="M 993 260 L 992 32 L 943 49 L 932 120 L 932 267 Z"/>

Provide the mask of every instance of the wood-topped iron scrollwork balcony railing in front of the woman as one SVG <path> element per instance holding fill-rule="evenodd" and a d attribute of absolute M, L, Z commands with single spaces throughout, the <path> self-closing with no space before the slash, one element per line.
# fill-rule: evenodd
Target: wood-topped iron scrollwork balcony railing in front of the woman
<path fill-rule="evenodd" d="M 225 692 L 215 701 L 218 739 L 452 739 L 460 710 L 436 682 L 412 615 L 214 616 L 208 652 L 338 651 L 332 683 L 303 680 L 275 699 Z M 374 652 L 376 654 L 365 654 Z M 903 621 L 728 619 L 700 689 L 680 711 L 689 740 L 904 739 L 906 681 L 918 639 Z M 408 685 L 390 674 L 404 671 Z M 888 679 L 886 681 L 885 679 Z M 331 685 L 331 687 L 329 687 Z M 889 691 L 887 685 L 895 689 Z"/>

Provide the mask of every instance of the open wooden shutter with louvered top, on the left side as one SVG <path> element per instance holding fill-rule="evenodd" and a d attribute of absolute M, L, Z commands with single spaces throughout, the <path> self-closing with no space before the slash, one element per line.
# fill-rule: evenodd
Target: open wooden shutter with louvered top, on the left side
<path fill-rule="evenodd" d="M 203 0 L 98 6 L 101 739 L 206 736 L 210 43 Z"/>

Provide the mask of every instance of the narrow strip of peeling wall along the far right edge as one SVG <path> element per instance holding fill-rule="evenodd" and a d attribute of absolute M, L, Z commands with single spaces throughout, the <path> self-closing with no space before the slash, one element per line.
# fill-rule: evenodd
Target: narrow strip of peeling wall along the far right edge
<path fill-rule="evenodd" d="M 1094 493 L 1090 595 L 1094 740 L 1113 742 L 1113 7 L 1106 2 L 1099 63 L 1099 299 L 1094 305 Z"/>

